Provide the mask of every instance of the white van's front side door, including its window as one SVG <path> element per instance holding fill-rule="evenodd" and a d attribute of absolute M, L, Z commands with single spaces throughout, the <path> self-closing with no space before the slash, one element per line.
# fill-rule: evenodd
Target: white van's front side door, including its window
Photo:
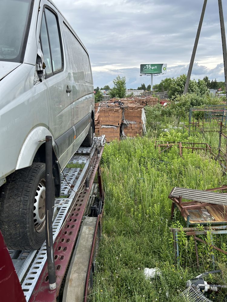
<path fill-rule="evenodd" d="M 40 40 L 46 65 L 44 86 L 49 129 L 58 145 L 61 156 L 74 140 L 71 80 L 64 60 L 58 14 L 47 6 L 44 6 L 43 9 Z M 66 160 L 67 158 L 64 159 L 63 156 L 61 158 L 62 164 Z"/>

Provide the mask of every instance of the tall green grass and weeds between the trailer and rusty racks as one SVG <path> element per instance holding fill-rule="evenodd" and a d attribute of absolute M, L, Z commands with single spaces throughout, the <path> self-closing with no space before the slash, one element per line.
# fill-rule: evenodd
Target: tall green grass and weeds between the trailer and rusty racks
<path fill-rule="evenodd" d="M 171 133 L 166 135 L 173 140 Z M 187 138 L 187 134 L 184 136 Z M 184 150 L 181 158 L 174 147 L 160 155 L 154 140 L 150 133 L 149 137 L 105 146 L 103 237 L 90 301 L 180 301 L 179 292 L 186 281 L 212 268 L 213 251 L 198 243 L 197 269 L 193 237 L 183 232 L 179 238 L 180 266 L 175 265 L 169 227 L 185 224 L 178 212 L 174 221 L 170 220 L 168 195 L 175 186 L 202 190 L 218 187 L 226 184 L 226 177 L 209 154 Z M 215 244 L 226 249 L 223 238 L 213 236 Z M 209 234 L 206 240 L 210 240 Z M 215 261 L 223 264 L 226 257 L 215 252 Z M 158 267 L 162 275 L 146 280 L 144 267 Z M 222 301 L 221 296 L 218 299 Z"/>

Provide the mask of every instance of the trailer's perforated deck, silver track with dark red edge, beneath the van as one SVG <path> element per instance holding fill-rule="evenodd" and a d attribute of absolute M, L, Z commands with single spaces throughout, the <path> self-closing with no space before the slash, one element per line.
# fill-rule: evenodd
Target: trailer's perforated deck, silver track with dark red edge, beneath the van
<path fill-rule="evenodd" d="M 83 281 L 84 292 L 78 301 L 87 299 L 90 269 L 95 257 L 95 240 L 100 236 L 104 203 L 99 168 L 104 144 L 105 137 L 103 136 L 95 138 L 90 148 L 80 147 L 68 163 L 81 165 L 81 167 L 65 168 L 61 175 L 61 198 L 55 199 L 53 215 L 53 248 L 57 288 L 54 291 L 49 289 L 46 241 L 37 251 L 9 251 L 26 301 L 57 300 L 81 224 L 86 217 L 92 216 L 94 230 L 92 230 L 92 234 L 89 234 L 92 242 L 89 255 L 87 255 L 89 261 L 87 262 L 85 282 Z M 98 184 L 94 183 L 96 172 L 98 173 Z M 94 205 L 97 200 L 98 188 L 100 198 L 97 205 Z M 82 239 L 83 236 L 80 237 Z M 72 259 L 74 258 L 75 255 Z"/>

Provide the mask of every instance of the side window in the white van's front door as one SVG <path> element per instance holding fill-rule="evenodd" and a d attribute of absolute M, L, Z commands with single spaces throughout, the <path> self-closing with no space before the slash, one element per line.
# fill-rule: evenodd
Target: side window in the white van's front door
<path fill-rule="evenodd" d="M 47 76 L 60 72 L 63 69 L 63 56 L 58 19 L 47 8 L 42 17 L 40 39 Z"/>

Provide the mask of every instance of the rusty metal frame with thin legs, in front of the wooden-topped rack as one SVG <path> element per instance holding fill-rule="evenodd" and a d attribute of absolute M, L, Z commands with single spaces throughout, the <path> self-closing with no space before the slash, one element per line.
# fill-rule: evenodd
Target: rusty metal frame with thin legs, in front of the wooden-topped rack
<path fill-rule="evenodd" d="M 227 252 L 213 244 L 213 234 L 227 234 L 227 226 L 204 226 L 203 230 L 198 227 L 190 227 L 190 228 L 170 228 L 171 232 L 173 233 L 173 245 L 174 245 L 174 256 L 175 262 L 179 264 L 179 244 L 178 244 L 178 233 L 184 232 L 187 236 L 193 236 L 195 242 L 195 252 L 196 252 L 196 263 L 199 267 L 199 255 L 198 255 L 198 248 L 197 248 L 197 241 L 200 241 L 206 245 L 210 245 L 212 249 L 216 249 L 219 252 L 227 255 Z M 211 244 L 208 243 L 206 240 L 199 238 L 199 235 L 207 235 L 209 232 L 209 236 L 211 237 Z M 214 255 L 212 254 L 212 262 L 213 266 L 215 265 Z"/>

